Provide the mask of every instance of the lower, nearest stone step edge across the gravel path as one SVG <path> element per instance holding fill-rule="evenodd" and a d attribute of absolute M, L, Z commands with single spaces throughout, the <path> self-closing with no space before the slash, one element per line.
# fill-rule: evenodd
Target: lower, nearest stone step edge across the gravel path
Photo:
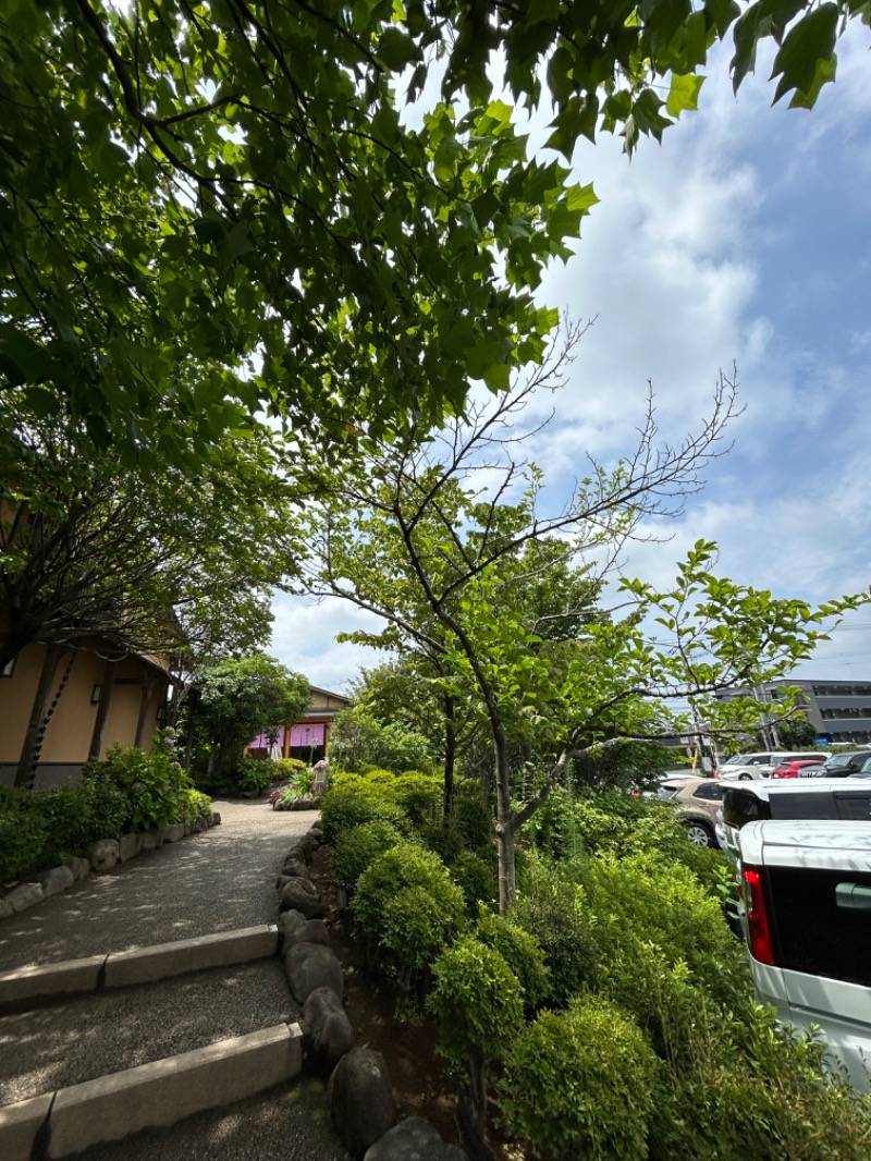
<path fill-rule="evenodd" d="M 48 1161 L 243 1101 L 302 1070 L 298 1024 L 278 1024 L 0 1108 L 0 1156 Z"/>

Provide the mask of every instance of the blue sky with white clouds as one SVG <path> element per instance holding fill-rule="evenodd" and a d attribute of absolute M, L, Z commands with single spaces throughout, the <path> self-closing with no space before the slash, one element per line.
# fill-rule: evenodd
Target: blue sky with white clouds
<path fill-rule="evenodd" d="M 588 450 L 605 462 L 631 450 L 648 380 L 670 439 L 698 426 L 733 363 L 746 408 L 671 541 L 633 549 L 629 575 L 665 583 L 705 538 L 721 574 L 778 596 L 821 601 L 871 584 L 869 65 L 858 26 L 808 113 L 771 107 L 763 59 L 735 98 L 719 52 L 699 111 L 661 146 L 643 140 L 629 163 L 604 135 L 576 152 L 600 204 L 539 296 L 596 323 L 537 448 L 554 498 Z M 379 661 L 336 644 L 361 623 L 343 605 L 280 597 L 275 616 L 272 651 L 316 685 L 340 690 Z M 871 608 L 796 676 L 871 679 Z"/>

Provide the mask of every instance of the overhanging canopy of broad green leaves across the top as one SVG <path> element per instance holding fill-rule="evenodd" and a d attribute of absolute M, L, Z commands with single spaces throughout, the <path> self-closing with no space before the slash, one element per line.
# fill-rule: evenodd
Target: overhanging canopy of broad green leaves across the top
<path fill-rule="evenodd" d="M 322 452 L 436 421 L 541 356 L 555 317 L 530 291 L 596 201 L 527 156 L 497 79 L 549 104 L 567 158 L 603 130 L 632 150 L 696 107 L 715 41 L 734 33 L 737 85 L 773 39 L 776 96 L 812 104 L 870 12 L 6 0 L 0 384 L 130 460 L 189 462 L 260 410 Z"/>

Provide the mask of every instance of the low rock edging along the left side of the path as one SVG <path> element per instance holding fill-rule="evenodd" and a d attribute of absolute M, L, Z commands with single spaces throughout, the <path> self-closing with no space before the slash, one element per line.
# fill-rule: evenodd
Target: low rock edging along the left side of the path
<path fill-rule="evenodd" d="M 92 872 L 99 874 L 102 871 L 110 871 L 118 863 L 127 863 L 137 854 L 158 850 L 164 843 L 178 843 L 187 835 L 202 834 L 203 830 L 219 823 L 221 815 L 215 810 L 202 815 L 195 822 L 173 822 L 159 830 L 122 835 L 121 838 L 100 838 L 88 846 L 86 857 L 64 859 L 62 866 L 41 871 L 33 879 L 16 884 L 6 894 L 0 895 L 0 920 L 17 915 L 52 895 L 60 894 Z"/>

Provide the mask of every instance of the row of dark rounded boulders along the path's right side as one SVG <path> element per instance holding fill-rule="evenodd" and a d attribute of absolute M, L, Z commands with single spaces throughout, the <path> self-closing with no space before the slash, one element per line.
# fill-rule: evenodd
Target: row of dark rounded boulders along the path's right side
<path fill-rule="evenodd" d="M 354 1046 L 343 1005 L 341 964 L 330 947 L 326 907 L 309 865 L 321 845 L 316 823 L 285 856 L 279 875 L 279 954 L 297 1003 L 302 1004 L 303 1068 L 329 1076 L 333 1125 L 357 1161 L 467 1161 L 456 1145 L 419 1117 L 397 1124 L 387 1063 L 380 1052 Z"/>

